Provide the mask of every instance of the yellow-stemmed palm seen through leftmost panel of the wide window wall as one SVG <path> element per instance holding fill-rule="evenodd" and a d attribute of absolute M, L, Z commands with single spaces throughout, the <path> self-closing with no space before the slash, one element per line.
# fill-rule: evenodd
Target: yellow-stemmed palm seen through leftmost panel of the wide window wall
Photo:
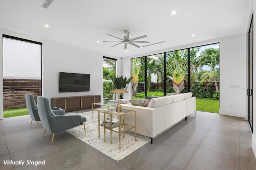
<path fill-rule="evenodd" d="M 142 67 L 142 64 L 139 58 L 132 59 L 131 65 L 132 65 L 132 96 L 135 97 L 137 93 L 138 84 L 139 82 L 144 80 L 144 78 L 139 79 L 140 69 Z"/>

